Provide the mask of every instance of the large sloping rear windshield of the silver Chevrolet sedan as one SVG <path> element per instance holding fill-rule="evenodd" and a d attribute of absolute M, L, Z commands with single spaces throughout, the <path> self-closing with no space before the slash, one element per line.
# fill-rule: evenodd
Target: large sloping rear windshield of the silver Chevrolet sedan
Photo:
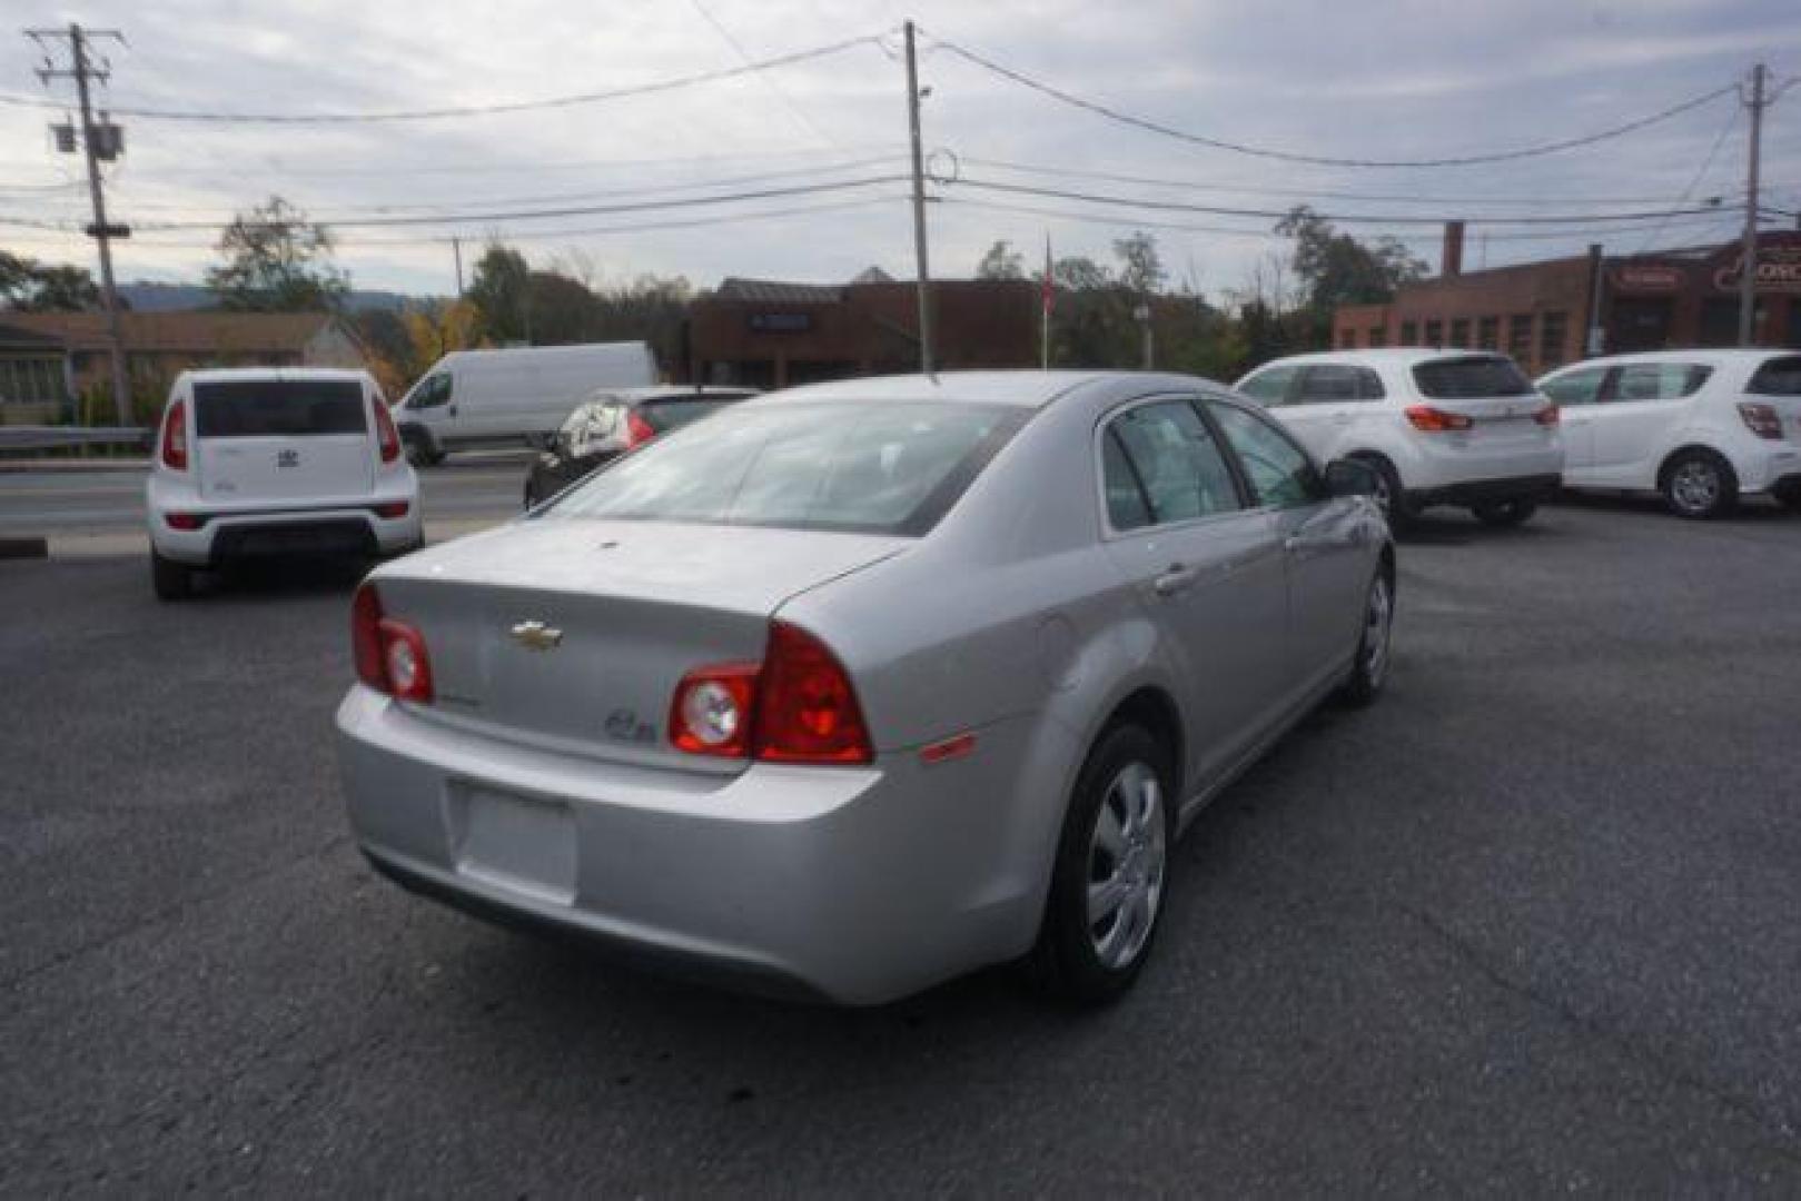
<path fill-rule="evenodd" d="M 731 405 L 540 511 L 919 537 L 1023 420 L 942 402 Z"/>

